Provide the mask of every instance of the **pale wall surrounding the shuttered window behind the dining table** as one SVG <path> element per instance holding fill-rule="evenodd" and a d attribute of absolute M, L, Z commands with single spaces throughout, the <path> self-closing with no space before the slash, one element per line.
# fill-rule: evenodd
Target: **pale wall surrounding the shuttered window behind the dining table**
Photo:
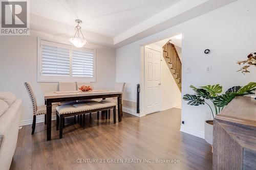
<path fill-rule="evenodd" d="M 58 83 L 37 83 L 37 37 L 47 37 L 63 43 L 67 38 L 55 37 L 44 33 L 32 33 L 31 36 L 0 36 L 0 89 L 13 92 L 23 100 L 21 122 L 31 123 L 32 108 L 24 82 L 31 82 L 38 105 L 44 105 L 44 93 L 56 91 Z M 87 48 L 96 49 L 96 89 L 112 89 L 115 83 L 115 50 L 94 44 Z"/>

